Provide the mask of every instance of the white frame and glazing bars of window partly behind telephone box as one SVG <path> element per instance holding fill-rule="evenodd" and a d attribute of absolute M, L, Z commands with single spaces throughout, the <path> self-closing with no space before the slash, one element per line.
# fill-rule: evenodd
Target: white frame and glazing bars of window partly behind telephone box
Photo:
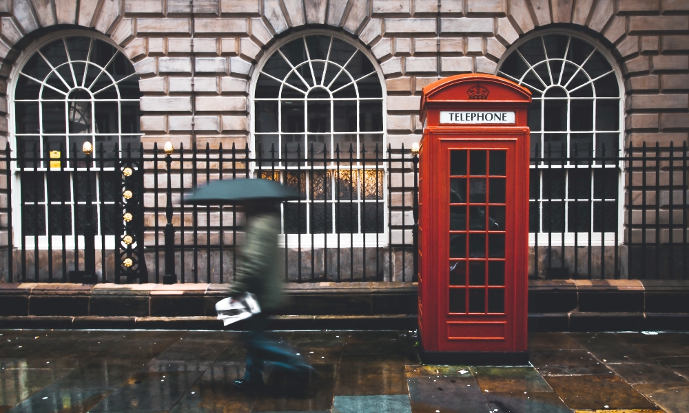
<path fill-rule="evenodd" d="M 574 62 L 566 60 L 566 54 L 567 53 L 565 52 L 565 59 L 548 59 L 548 56 L 546 56 L 545 60 L 539 61 L 539 62 L 535 63 L 534 65 L 531 65 L 531 63 L 528 63 L 528 61 L 526 61 L 526 59 L 522 58 L 524 60 L 524 62 L 526 63 L 526 65 L 528 65 L 529 69 L 527 69 L 526 72 L 524 72 L 524 74 L 522 74 L 522 78 L 520 78 L 520 79 L 513 78 L 512 76 L 509 76 L 508 74 L 504 74 L 500 71 L 500 67 L 502 67 L 502 64 L 504 63 L 504 61 L 506 61 L 506 59 L 509 56 L 511 56 L 511 54 L 519 53 L 517 51 L 517 47 L 520 47 L 524 43 L 527 43 L 528 41 L 531 41 L 537 37 L 542 38 L 543 36 L 548 36 L 548 35 L 552 35 L 552 34 L 570 36 L 570 38 L 575 37 L 581 41 L 584 41 L 584 42 L 592 45 L 593 51 L 590 52 L 589 56 L 586 58 L 584 63 L 582 63 L 581 66 L 577 65 Z M 567 47 L 569 47 L 569 44 L 570 43 L 568 42 Z M 544 47 L 544 49 L 545 49 L 545 47 Z M 610 64 L 610 67 L 612 67 L 612 70 L 610 70 L 609 72 L 606 72 L 605 74 L 597 76 L 595 79 L 591 79 L 590 76 L 584 71 L 583 66 L 586 64 L 586 61 L 588 61 L 590 56 L 592 56 L 596 51 L 600 52 L 604 56 L 604 58 Z M 515 42 L 513 45 L 511 45 L 511 47 L 508 48 L 508 50 L 506 50 L 506 52 L 503 54 L 502 58 L 500 59 L 500 61 L 497 64 L 496 74 L 498 76 L 503 76 L 504 78 L 508 78 L 511 81 L 515 81 L 516 83 L 521 84 L 522 79 L 524 78 L 524 76 L 526 76 L 526 74 L 528 74 L 528 72 L 531 70 L 532 67 L 535 67 L 535 66 L 537 66 L 543 62 L 547 62 L 547 61 L 551 61 L 551 60 L 552 61 L 566 61 L 572 65 L 577 66 L 579 68 L 578 70 L 580 72 L 583 72 L 587 76 L 587 78 L 589 79 L 589 82 L 592 82 L 598 78 L 602 78 L 604 76 L 607 76 L 610 73 L 615 74 L 615 78 L 617 80 L 617 87 L 619 88 L 619 97 L 618 98 L 596 97 L 595 96 L 595 87 L 593 87 L 593 93 L 594 93 L 593 98 L 588 98 L 588 97 L 587 98 L 577 98 L 577 97 L 569 96 L 569 92 L 571 92 L 571 91 L 568 90 L 568 96 L 566 98 L 567 100 L 577 100 L 577 99 L 591 100 L 591 99 L 593 99 L 594 103 L 593 103 L 593 130 L 592 131 L 571 131 L 570 130 L 569 113 L 567 116 L 567 131 L 563 131 L 563 132 L 545 131 L 544 130 L 544 122 L 545 122 L 544 107 L 545 107 L 545 105 L 542 104 L 541 105 L 541 128 L 540 128 L 541 130 L 536 132 L 537 134 L 539 134 L 541 136 L 542 142 L 544 142 L 543 139 L 544 139 L 545 134 L 563 134 L 567 137 L 567 140 L 566 140 L 566 142 L 567 142 L 567 153 L 570 153 L 570 135 L 571 134 L 593 134 L 592 145 L 593 145 L 594 156 L 595 156 L 595 151 L 597 150 L 597 148 L 596 148 L 596 134 L 597 133 L 614 133 L 614 134 L 618 134 L 617 145 L 619 148 L 619 154 L 624 153 L 624 140 L 623 140 L 623 136 L 624 136 L 623 135 L 623 133 L 624 133 L 624 102 L 625 102 L 626 92 L 624 89 L 624 82 L 622 81 L 623 77 L 622 77 L 621 71 L 619 70 L 619 67 L 617 65 L 617 61 L 613 58 L 613 56 L 610 54 L 610 52 L 608 52 L 607 47 L 602 45 L 599 41 L 596 41 L 595 39 L 590 39 L 589 37 L 582 35 L 581 32 L 578 32 L 576 30 L 557 29 L 557 30 L 537 31 L 537 32 L 529 34 L 528 36 L 524 36 L 524 38 L 522 38 L 522 39 L 519 39 L 519 41 Z M 551 73 L 550 65 L 547 65 L 547 67 L 548 67 L 548 73 L 550 74 Z M 564 70 L 564 64 L 562 65 L 562 70 Z M 559 85 L 559 82 L 562 80 L 562 70 L 560 72 L 560 75 L 558 76 L 558 83 L 555 83 L 555 81 L 553 79 L 553 83 L 551 83 L 551 86 Z M 570 81 L 576 76 L 576 74 L 577 73 L 575 73 L 571 76 Z M 553 76 L 551 74 L 551 78 L 552 77 Z M 543 82 L 547 83 L 547 81 L 550 81 L 550 80 L 551 79 L 545 79 L 545 80 L 543 80 Z M 584 85 L 586 85 L 586 84 L 588 84 L 588 82 L 585 83 Z M 581 86 L 584 86 L 584 85 L 581 85 Z M 541 85 L 541 86 L 543 86 L 543 85 Z M 564 87 L 564 86 L 565 85 L 562 85 L 562 87 Z M 579 87 L 581 87 L 581 86 L 579 86 Z M 577 87 L 577 88 L 579 88 L 579 87 Z M 548 88 L 549 88 L 548 85 L 546 85 L 546 87 L 544 87 L 541 90 L 542 96 L 540 96 L 538 98 L 533 98 L 533 100 L 542 100 L 542 102 L 545 103 L 548 99 L 553 99 L 553 98 L 546 98 L 545 97 L 545 93 L 546 93 L 546 90 Z M 564 98 L 557 98 L 557 99 L 563 100 Z M 606 99 L 606 100 L 618 99 L 619 100 L 619 112 L 618 112 L 619 129 L 617 131 L 597 131 L 596 130 L 596 115 L 595 115 L 596 114 L 596 112 L 595 112 L 596 106 L 595 105 L 596 105 L 597 100 L 603 100 L 603 99 Z M 570 105 L 568 105 L 568 110 L 569 110 L 569 107 L 570 107 Z M 541 151 L 542 151 L 541 155 L 540 155 L 541 158 L 544 157 L 544 151 L 546 150 L 544 145 L 542 145 L 542 142 L 541 142 L 541 145 L 539 145 L 541 148 Z M 610 150 L 612 150 L 612 149 L 610 149 Z M 606 149 L 606 151 L 608 151 L 608 149 Z M 531 148 L 529 149 L 529 153 L 531 156 Z M 542 171 L 548 171 L 548 167 L 545 167 L 545 165 L 542 165 L 541 168 L 538 168 L 539 166 L 540 165 L 530 165 L 529 168 L 530 169 L 541 169 Z M 624 162 L 618 162 L 616 165 L 609 165 L 609 164 L 608 165 L 595 165 L 594 164 L 593 166 L 591 166 L 591 168 L 592 169 L 588 169 L 588 167 L 587 167 L 586 170 L 590 170 L 593 172 L 593 170 L 606 168 L 606 169 L 616 169 L 618 172 L 617 173 L 617 200 L 619 200 L 619 203 L 618 203 L 618 208 L 617 208 L 617 226 L 616 226 L 616 228 L 617 228 L 617 242 L 618 242 L 618 244 L 622 244 L 622 240 L 624 240 Z M 555 170 L 555 169 L 566 169 L 566 171 L 569 171 L 569 170 L 575 169 L 575 165 L 570 165 L 570 163 L 568 162 L 567 165 L 551 165 L 550 169 L 553 169 L 553 170 Z M 590 198 L 586 198 L 586 199 L 577 198 L 575 200 L 574 198 L 564 198 L 564 199 L 561 199 L 561 198 L 543 198 L 544 184 L 542 181 L 542 173 L 540 174 L 539 182 L 541 182 L 541 183 L 539 185 L 539 196 L 537 199 L 529 199 L 530 202 L 539 202 L 539 209 L 540 209 L 540 211 L 539 211 L 539 232 L 533 233 L 530 231 L 528 234 L 528 243 L 530 246 L 534 246 L 536 244 L 536 242 L 539 246 L 548 246 L 548 244 L 550 244 L 552 246 L 561 246 L 561 245 L 574 246 L 575 242 L 579 246 L 586 246 L 589 243 L 592 246 L 601 246 L 602 244 L 605 244 L 606 246 L 612 246 L 615 244 L 615 235 L 616 235 L 615 232 L 601 233 L 601 232 L 593 231 L 593 224 L 594 224 L 593 206 L 594 206 L 595 202 L 599 202 L 599 201 L 601 201 L 601 199 L 593 198 L 593 173 L 591 174 L 591 176 L 592 176 L 592 181 L 590 183 L 590 187 L 591 187 L 590 188 Z M 568 184 L 569 184 L 568 178 L 569 178 L 569 173 L 566 173 L 565 174 L 565 184 L 564 184 L 564 190 L 565 190 L 564 195 L 565 196 L 568 194 Z M 589 237 L 588 232 L 579 232 L 579 233 L 564 232 L 564 239 L 562 237 L 562 235 L 563 235 L 562 231 L 553 232 L 553 233 L 544 232 L 544 222 L 543 222 L 544 201 L 546 201 L 546 202 L 548 202 L 548 201 L 550 201 L 550 202 L 564 202 L 564 225 L 565 225 L 566 229 L 568 229 L 568 218 L 569 218 L 568 207 L 569 207 L 570 202 L 590 202 L 590 238 L 591 239 L 588 240 L 588 237 Z M 605 202 L 614 202 L 615 198 L 605 198 L 604 201 Z"/>

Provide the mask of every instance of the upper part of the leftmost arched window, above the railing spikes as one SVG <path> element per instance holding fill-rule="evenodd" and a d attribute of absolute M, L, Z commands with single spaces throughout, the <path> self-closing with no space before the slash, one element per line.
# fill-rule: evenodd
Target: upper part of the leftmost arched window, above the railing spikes
<path fill-rule="evenodd" d="M 54 39 L 54 37 L 53 37 Z M 61 36 L 39 47 L 17 74 L 14 126 L 19 156 L 85 140 L 99 149 L 140 141 L 138 76 L 127 56 L 93 36 Z"/>

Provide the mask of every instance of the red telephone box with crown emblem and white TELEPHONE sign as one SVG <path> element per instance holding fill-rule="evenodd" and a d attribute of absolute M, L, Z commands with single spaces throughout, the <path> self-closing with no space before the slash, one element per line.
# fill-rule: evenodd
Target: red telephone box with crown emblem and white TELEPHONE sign
<path fill-rule="evenodd" d="M 462 74 L 424 87 L 419 326 L 429 363 L 523 364 L 531 92 Z"/>

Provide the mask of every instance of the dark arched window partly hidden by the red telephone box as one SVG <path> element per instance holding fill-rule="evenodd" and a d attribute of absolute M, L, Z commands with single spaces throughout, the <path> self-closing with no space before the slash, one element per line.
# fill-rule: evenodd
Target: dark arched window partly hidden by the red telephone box
<path fill-rule="evenodd" d="M 621 147 L 621 95 L 603 50 L 571 34 L 541 34 L 513 47 L 498 74 L 533 94 L 529 231 L 598 233 L 594 240 L 618 231 L 621 171 L 603 158 Z"/>

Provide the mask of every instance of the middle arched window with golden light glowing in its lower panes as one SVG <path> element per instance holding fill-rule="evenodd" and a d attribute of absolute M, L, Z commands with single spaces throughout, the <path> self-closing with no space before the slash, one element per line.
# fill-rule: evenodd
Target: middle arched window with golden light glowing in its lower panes
<path fill-rule="evenodd" d="M 285 204 L 284 233 L 382 232 L 380 79 L 362 50 L 326 34 L 300 36 L 265 60 L 253 93 L 254 156 L 271 169 L 262 175 L 307 198 Z"/>

